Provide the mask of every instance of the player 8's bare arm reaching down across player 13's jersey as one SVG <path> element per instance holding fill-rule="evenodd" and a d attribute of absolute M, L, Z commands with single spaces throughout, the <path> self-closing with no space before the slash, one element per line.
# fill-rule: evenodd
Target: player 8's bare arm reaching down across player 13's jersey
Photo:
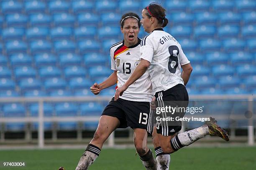
<path fill-rule="evenodd" d="M 147 60 L 141 59 L 141 62 L 133 71 L 133 74 L 129 77 L 129 79 L 125 82 L 124 85 L 118 87 L 115 91 L 115 101 L 118 100 L 119 96 L 123 95 L 123 92 L 131 85 L 133 82 L 138 80 L 145 72 L 148 70 L 150 66 L 150 62 Z"/>

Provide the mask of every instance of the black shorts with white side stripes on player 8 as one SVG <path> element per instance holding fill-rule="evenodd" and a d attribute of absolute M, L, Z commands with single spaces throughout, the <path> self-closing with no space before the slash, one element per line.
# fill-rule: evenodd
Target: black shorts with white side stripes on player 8
<path fill-rule="evenodd" d="M 184 107 L 188 106 L 188 94 L 186 87 L 178 84 L 166 91 L 156 92 L 156 107 Z M 161 117 L 184 117 L 186 112 L 179 111 L 173 114 L 163 112 Z M 156 117 L 157 115 L 155 115 Z M 156 121 L 156 131 L 164 136 L 174 135 L 182 129 L 181 121 Z"/>

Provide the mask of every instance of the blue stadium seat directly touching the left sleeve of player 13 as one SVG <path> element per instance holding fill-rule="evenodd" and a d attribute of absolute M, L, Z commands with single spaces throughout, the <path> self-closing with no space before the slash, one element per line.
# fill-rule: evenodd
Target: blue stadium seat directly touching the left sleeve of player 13
<path fill-rule="evenodd" d="M 105 65 L 107 62 L 107 57 L 99 53 L 90 53 L 84 55 L 84 65 L 86 67 L 94 67 L 95 65 Z"/>

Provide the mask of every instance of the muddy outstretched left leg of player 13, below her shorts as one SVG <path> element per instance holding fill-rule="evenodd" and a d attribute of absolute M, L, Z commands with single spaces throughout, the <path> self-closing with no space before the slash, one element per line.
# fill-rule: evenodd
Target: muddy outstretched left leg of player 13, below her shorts
<path fill-rule="evenodd" d="M 87 170 L 87 168 L 100 155 L 103 143 L 108 139 L 109 135 L 120 125 L 117 117 L 102 115 L 94 133 L 94 136 L 82 154 L 76 170 Z"/>

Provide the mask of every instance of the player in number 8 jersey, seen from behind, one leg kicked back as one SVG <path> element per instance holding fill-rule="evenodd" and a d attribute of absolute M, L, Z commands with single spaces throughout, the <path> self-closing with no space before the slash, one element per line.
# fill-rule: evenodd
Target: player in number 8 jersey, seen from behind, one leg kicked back
<path fill-rule="evenodd" d="M 141 23 L 149 35 L 141 40 L 141 62 L 123 86 L 116 89 L 115 100 L 149 68 L 153 93 L 161 106 L 164 106 L 164 101 L 188 101 L 184 85 L 189 80 L 192 67 L 179 42 L 163 30 L 168 23 L 165 16 L 164 8 L 157 3 L 151 3 L 142 10 Z M 216 122 L 210 117 L 210 121 L 200 128 L 177 134 L 181 124 L 170 125 L 170 122 L 162 121 L 156 129 L 161 148 L 164 153 L 174 153 L 205 135 L 219 136 L 228 141 L 228 134 Z"/>

